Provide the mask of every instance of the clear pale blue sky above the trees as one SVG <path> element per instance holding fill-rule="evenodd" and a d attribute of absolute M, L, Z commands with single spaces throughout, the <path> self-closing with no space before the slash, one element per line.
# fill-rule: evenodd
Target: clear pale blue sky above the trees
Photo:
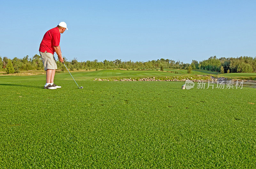
<path fill-rule="evenodd" d="M 65 21 L 68 60 L 191 63 L 256 56 L 256 1 L 0 1 L 0 56 L 33 57 L 44 33 Z"/>

